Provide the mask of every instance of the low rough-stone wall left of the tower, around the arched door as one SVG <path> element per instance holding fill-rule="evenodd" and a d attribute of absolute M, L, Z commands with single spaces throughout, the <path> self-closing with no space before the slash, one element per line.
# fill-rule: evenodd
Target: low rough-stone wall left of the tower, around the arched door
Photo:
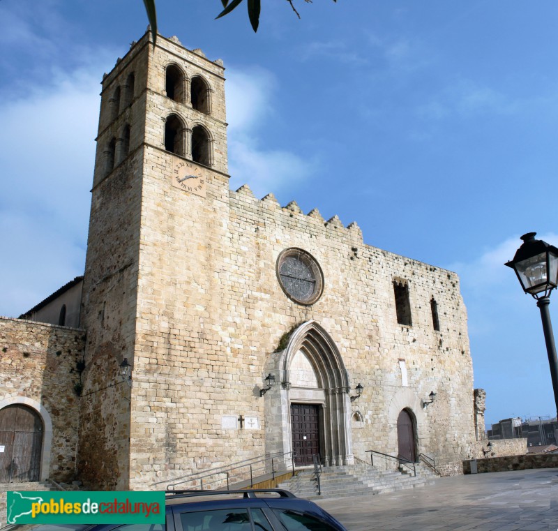
<path fill-rule="evenodd" d="M 46 455 L 43 451 L 43 461 L 50 459 L 48 477 L 56 481 L 75 478 L 80 411 L 77 363 L 84 343 L 85 332 L 80 329 L 0 317 L 0 401 L 44 407 L 52 421 L 52 450 L 47 449 Z"/>

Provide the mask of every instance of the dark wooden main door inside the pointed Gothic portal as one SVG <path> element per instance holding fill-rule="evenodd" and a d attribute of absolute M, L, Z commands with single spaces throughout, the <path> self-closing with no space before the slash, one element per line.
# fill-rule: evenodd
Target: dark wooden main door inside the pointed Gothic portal
<path fill-rule="evenodd" d="M 292 449 L 296 465 L 312 465 L 312 455 L 319 454 L 319 406 L 291 404 Z"/>

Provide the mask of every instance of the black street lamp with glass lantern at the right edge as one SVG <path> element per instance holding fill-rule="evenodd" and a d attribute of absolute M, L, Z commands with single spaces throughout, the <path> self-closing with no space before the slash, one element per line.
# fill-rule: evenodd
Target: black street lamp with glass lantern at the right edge
<path fill-rule="evenodd" d="M 558 286 L 558 248 L 543 240 L 535 239 L 536 232 L 528 232 L 521 239 L 522 245 L 515 253 L 513 260 L 506 262 L 518 276 L 525 293 L 536 299 L 541 310 L 543 332 L 545 334 L 546 352 L 550 364 L 550 377 L 554 389 L 554 400 L 558 417 L 558 359 L 556 345 L 550 322 L 550 292 Z"/>

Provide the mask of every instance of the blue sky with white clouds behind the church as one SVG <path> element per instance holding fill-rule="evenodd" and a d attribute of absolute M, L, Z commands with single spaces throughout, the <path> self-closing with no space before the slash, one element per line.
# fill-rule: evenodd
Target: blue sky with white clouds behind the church
<path fill-rule="evenodd" d="M 525 232 L 558 245 L 558 3 L 262 3 L 257 34 L 245 6 L 158 3 L 160 33 L 225 61 L 231 187 L 457 271 L 488 423 L 553 416 L 538 309 L 503 263 Z M 146 24 L 141 0 L 0 0 L 0 315 L 82 274 L 100 80 Z"/>

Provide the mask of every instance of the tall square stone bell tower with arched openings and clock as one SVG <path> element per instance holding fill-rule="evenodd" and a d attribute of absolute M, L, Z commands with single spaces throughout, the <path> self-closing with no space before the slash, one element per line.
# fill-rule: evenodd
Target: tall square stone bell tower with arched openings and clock
<path fill-rule="evenodd" d="M 200 264 L 228 208 L 223 73 L 176 37 L 153 45 L 146 33 L 103 77 L 78 455 L 94 488 L 134 488 L 147 463 L 160 470 L 176 451 L 161 404 L 181 402 L 172 359 L 200 337 L 204 312 L 191 309 L 211 292 Z M 130 380 L 119 376 L 124 359 Z"/>

